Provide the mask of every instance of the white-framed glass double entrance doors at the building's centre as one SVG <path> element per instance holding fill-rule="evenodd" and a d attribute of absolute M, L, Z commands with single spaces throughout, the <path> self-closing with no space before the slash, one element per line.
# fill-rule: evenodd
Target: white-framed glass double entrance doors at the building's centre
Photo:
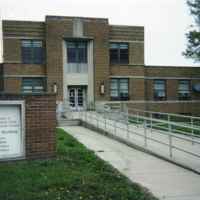
<path fill-rule="evenodd" d="M 69 104 L 72 110 L 81 110 L 85 107 L 85 88 L 70 87 L 68 89 Z"/>

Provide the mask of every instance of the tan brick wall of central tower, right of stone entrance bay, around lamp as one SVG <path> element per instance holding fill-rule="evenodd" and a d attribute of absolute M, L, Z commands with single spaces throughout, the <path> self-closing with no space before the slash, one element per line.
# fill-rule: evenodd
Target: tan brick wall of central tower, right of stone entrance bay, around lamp
<path fill-rule="evenodd" d="M 96 100 L 109 99 L 109 26 L 107 20 L 84 21 L 84 36 L 94 39 L 94 90 Z M 105 83 L 105 95 L 99 94 L 100 84 Z"/>

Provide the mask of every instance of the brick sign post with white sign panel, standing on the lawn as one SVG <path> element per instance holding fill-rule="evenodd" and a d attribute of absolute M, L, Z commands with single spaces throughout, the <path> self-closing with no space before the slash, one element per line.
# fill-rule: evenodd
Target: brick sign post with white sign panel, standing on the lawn
<path fill-rule="evenodd" d="M 55 156 L 53 94 L 0 94 L 0 161 Z"/>

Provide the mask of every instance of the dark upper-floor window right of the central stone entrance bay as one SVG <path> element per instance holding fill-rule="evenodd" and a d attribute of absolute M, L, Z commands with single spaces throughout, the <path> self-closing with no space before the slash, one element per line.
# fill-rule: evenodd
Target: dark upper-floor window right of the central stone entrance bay
<path fill-rule="evenodd" d="M 129 63 L 128 43 L 110 43 L 110 63 L 111 64 Z"/>

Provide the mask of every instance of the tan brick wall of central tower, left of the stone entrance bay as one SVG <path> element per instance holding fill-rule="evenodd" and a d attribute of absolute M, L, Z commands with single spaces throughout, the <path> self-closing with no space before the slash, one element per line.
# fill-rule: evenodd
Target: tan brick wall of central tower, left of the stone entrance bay
<path fill-rule="evenodd" d="M 46 20 L 47 89 L 57 83 L 58 100 L 63 99 L 63 39 L 72 37 L 72 30 L 70 19 Z"/>

